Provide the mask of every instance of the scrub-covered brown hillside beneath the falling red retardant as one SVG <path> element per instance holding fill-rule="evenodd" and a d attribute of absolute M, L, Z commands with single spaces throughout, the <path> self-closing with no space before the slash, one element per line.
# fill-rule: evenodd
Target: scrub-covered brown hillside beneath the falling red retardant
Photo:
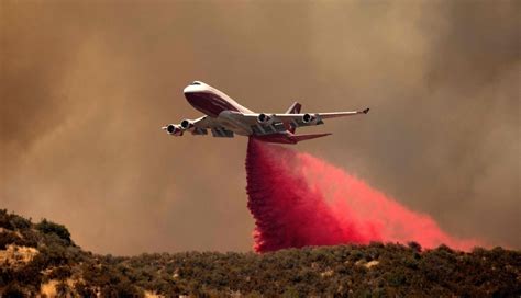
<path fill-rule="evenodd" d="M 98 255 L 66 227 L 0 210 L 0 296 L 519 297 L 521 252 L 372 243 L 274 253 Z"/>

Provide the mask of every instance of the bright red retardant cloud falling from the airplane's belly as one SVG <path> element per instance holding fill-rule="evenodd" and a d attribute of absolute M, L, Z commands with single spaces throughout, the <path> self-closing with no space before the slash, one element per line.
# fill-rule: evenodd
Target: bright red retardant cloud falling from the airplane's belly
<path fill-rule="evenodd" d="M 257 252 L 370 241 L 459 250 L 477 244 L 308 153 L 250 139 L 246 172 Z"/>

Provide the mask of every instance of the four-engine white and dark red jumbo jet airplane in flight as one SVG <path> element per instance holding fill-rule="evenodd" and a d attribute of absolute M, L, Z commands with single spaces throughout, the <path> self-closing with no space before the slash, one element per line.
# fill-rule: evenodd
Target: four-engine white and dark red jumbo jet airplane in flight
<path fill-rule="evenodd" d="M 331 134 L 296 135 L 297 127 L 321 125 L 323 119 L 367 114 L 369 108 L 354 112 L 306 113 L 301 114 L 301 104 L 295 102 L 286 113 L 254 113 L 240 105 L 232 98 L 218 89 L 195 81 L 184 90 L 187 101 L 204 116 L 197 119 L 184 119 L 180 124 L 168 124 L 162 127 L 168 135 L 182 136 L 185 131 L 192 135 L 233 138 L 234 135 L 247 136 L 267 142 L 297 144 L 325 137 Z"/>

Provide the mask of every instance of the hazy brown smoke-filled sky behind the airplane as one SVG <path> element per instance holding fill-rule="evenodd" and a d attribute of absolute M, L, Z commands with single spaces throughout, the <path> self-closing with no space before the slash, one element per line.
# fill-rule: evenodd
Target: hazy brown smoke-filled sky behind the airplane
<path fill-rule="evenodd" d="M 372 107 L 295 148 L 521 248 L 519 1 L 1 1 L 0 207 L 100 253 L 252 250 L 247 139 L 173 138 L 193 80 L 256 112 Z M 304 129 L 300 130 L 301 133 Z"/>

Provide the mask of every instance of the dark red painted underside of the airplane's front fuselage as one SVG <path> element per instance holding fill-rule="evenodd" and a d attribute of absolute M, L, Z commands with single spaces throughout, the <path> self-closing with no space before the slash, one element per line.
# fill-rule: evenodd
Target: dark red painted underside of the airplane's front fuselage
<path fill-rule="evenodd" d="M 222 111 L 239 112 L 230 102 L 213 93 L 189 92 L 185 93 L 185 98 L 195 108 L 211 117 L 219 116 Z"/>

